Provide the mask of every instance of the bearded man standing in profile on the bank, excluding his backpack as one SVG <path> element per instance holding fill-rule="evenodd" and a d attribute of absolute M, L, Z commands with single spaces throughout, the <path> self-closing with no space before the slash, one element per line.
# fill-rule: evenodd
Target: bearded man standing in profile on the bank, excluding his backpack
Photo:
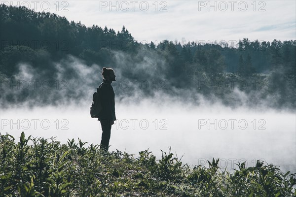
<path fill-rule="evenodd" d="M 113 125 L 116 120 L 114 91 L 111 86 L 112 81 L 115 81 L 114 70 L 112 68 L 103 67 L 102 76 L 103 83 L 99 87 L 101 93 L 102 111 L 100 112 L 98 118 L 103 131 L 100 149 L 108 151 L 111 125 Z"/>

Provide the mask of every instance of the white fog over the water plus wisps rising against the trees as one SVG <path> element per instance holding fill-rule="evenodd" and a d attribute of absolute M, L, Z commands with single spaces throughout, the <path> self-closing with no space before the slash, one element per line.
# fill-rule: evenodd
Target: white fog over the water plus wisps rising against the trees
<path fill-rule="evenodd" d="M 276 95 L 253 106 L 250 100 L 256 94 L 234 89 L 226 97 L 226 106 L 218 98 L 171 87 L 156 69 L 166 63 L 152 55 L 147 52 L 142 64 L 131 69 L 131 60 L 116 54 L 117 121 L 111 129 L 110 151 L 137 157 L 139 151 L 149 149 L 159 159 L 160 150 L 168 152 L 171 147 L 191 166 L 220 158 L 220 166 L 230 170 L 234 163 L 247 161 L 254 166 L 261 159 L 284 171 L 296 171 L 296 114 L 267 107 Z M 48 69 L 20 63 L 14 82 L 1 80 L 1 134 L 8 132 L 16 141 L 24 131 L 26 136 L 55 136 L 62 143 L 79 137 L 88 145 L 99 144 L 102 130 L 89 108 L 102 81 L 102 67 L 86 66 L 73 56 L 52 62 Z M 137 74 L 140 77 L 133 78 Z"/>

